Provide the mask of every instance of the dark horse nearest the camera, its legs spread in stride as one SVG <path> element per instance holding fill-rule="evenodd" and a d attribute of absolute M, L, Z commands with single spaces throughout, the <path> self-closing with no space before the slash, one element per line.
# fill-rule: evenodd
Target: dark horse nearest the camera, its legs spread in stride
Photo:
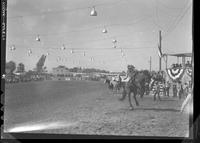
<path fill-rule="evenodd" d="M 122 84 L 123 93 L 122 93 L 122 98 L 120 98 L 120 100 L 123 101 L 126 95 L 128 95 L 130 109 L 133 110 L 134 108 L 131 102 L 131 93 L 133 93 L 135 103 L 137 106 L 139 106 L 139 103 L 136 99 L 136 95 L 139 94 L 141 98 L 143 97 L 145 93 L 145 83 L 149 82 L 149 80 L 150 80 L 150 74 L 147 74 L 144 71 L 137 72 L 134 79 L 130 79 L 129 82 L 124 82 Z"/>

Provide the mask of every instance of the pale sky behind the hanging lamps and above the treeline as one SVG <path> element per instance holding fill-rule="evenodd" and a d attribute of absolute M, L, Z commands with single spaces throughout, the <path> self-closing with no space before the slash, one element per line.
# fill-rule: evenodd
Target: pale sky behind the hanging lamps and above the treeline
<path fill-rule="evenodd" d="M 159 30 L 163 53 L 192 52 L 192 0 L 8 0 L 6 61 L 32 70 L 49 53 L 48 71 L 65 65 L 120 72 L 128 64 L 149 69 L 151 57 L 158 70 Z M 168 58 L 168 66 L 176 62 Z"/>

